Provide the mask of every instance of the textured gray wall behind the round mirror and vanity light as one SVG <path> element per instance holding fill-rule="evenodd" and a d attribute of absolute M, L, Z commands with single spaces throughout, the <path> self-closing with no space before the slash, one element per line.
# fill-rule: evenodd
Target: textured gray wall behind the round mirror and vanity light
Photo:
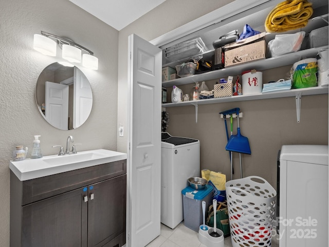
<path fill-rule="evenodd" d="M 78 129 L 52 127 L 36 108 L 36 80 L 47 65 L 60 59 L 33 50 L 33 34 L 41 30 L 68 37 L 99 59 L 97 71 L 77 65 L 89 79 L 94 97 L 92 113 Z M 0 246 L 9 247 L 9 160 L 16 145 L 31 151 L 33 135 L 41 135 L 43 155 L 54 155 L 58 149 L 51 146 L 65 146 L 72 135 L 82 143 L 78 151 L 117 149 L 118 31 L 67 0 L 3 0 L 0 33 Z"/>

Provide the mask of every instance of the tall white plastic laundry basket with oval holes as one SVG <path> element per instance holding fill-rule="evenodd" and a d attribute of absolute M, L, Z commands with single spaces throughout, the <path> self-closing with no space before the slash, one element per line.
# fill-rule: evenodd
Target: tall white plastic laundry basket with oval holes
<path fill-rule="evenodd" d="M 228 181 L 225 187 L 232 246 L 271 246 L 275 189 L 257 176 Z"/>

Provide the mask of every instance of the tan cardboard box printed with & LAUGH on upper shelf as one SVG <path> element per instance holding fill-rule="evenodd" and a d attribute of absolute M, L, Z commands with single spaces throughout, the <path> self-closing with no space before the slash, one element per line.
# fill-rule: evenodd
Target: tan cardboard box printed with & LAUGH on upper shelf
<path fill-rule="evenodd" d="M 227 50 L 225 51 L 225 67 L 265 59 L 266 50 L 265 40 Z"/>

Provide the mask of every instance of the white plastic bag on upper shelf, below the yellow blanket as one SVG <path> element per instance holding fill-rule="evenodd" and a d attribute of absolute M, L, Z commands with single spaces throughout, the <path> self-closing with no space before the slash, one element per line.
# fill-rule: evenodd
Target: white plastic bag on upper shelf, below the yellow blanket
<path fill-rule="evenodd" d="M 305 37 L 305 32 L 293 34 L 278 34 L 274 40 L 267 44 L 271 56 L 279 56 L 290 52 L 299 51 Z"/>

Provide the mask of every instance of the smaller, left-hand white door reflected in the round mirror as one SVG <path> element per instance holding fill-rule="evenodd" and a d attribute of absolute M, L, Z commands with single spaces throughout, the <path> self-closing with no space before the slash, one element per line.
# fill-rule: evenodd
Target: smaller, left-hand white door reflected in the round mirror
<path fill-rule="evenodd" d="M 45 117 L 52 126 L 67 130 L 68 125 L 68 86 L 46 82 Z"/>

